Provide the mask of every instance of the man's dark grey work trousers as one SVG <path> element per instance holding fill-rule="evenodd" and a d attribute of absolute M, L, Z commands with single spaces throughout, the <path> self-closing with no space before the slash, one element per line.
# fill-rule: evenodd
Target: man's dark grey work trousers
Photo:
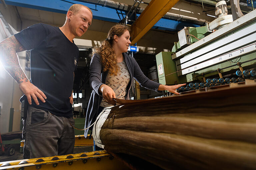
<path fill-rule="evenodd" d="M 23 158 L 39 158 L 72 154 L 75 133 L 73 117 L 59 117 L 33 106 L 28 106 L 23 121 L 22 137 L 25 139 Z"/>

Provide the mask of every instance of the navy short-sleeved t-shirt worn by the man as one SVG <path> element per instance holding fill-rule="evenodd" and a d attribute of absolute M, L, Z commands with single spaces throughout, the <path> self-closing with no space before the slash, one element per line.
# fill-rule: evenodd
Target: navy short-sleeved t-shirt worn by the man
<path fill-rule="evenodd" d="M 32 25 L 14 36 L 27 50 L 31 49 L 31 82 L 47 97 L 45 103 L 38 99 L 38 106 L 32 99 L 32 105 L 57 116 L 72 117 L 69 97 L 79 57 L 78 47 L 58 27 L 46 24 Z M 25 98 L 22 96 L 20 101 Z"/>

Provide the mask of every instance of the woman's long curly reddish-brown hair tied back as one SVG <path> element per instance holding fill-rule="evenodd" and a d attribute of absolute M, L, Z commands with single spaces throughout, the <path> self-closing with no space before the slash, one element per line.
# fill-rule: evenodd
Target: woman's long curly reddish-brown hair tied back
<path fill-rule="evenodd" d="M 114 35 L 120 37 L 127 30 L 130 31 L 130 28 L 126 25 L 117 24 L 113 26 L 108 32 L 107 39 L 104 40 L 100 46 L 96 46 L 92 49 L 92 55 L 96 53 L 101 56 L 103 71 L 109 71 L 110 75 L 117 75 L 119 72 L 119 67 L 117 66 L 116 61 L 117 57 L 112 47 Z"/>

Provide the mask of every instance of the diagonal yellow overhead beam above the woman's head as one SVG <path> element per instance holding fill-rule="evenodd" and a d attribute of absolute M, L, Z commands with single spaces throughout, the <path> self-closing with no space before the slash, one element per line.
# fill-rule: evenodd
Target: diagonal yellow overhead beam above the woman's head
<path fill-rule="evenodd" d="M 131 44 L 141 39 L 179 0 L 151 0 L 131 27 Z"/>

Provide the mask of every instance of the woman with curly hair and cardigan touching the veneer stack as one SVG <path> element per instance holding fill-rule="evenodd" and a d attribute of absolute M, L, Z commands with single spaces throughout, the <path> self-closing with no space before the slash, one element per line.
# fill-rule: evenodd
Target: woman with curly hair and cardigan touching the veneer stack
<path fill-rule="evenodd" d="M 186 84 L 166 86 L 149 80 L 133 57 L 126 54 L 130 42 L 129 27 L 115 25 L 99 47 L 93 49 L 90 65 L 90 85 L 93 89 L 86 111 L 85 128 L 95 121 L 103 108 L 115 105 L 113 98 L 130 99 L 129 91 L 135 78 L 150 90 L 175 90 Z M 104 100 L 102 100 L 104 99 Z M 87 137 L 88 129 L 85 130 Z"/>

